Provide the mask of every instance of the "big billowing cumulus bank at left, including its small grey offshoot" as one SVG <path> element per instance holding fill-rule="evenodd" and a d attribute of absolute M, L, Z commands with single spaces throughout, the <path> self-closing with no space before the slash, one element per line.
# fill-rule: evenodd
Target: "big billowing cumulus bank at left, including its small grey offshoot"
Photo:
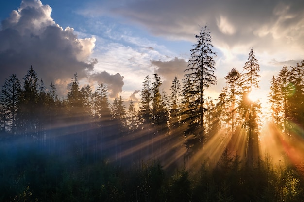
<path fill-rule="evenodd" d="M 106 82 L 111 96 L 121 92 L 123 77 L 94 71 L 97 59 L 91 58 L 96 37 L 79 38 L 73 28 L 63 29 L 51 18 L 51 7 L 40 0 L 22 0 L 20 7 L 1 22 L 0 80 L 15 73 L 22 78 L 32 65 L 46 86 L 56 84 L 59 96 L 65 96 L 71 78 Z"/>

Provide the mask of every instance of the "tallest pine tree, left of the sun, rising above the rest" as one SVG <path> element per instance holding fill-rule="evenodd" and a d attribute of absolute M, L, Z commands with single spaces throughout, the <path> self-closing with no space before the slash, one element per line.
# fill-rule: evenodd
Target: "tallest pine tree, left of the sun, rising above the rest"
<path fill-rule="evenodd" d="M 195 36 L 197 44 L 191 49 L 191 58 L 189 59 L 188 68 L 185 70 L 186 78 L 191 83 L 191 89 L 184 90 L 184 94 L 191 94 L 187 110 L 188 128 L 185 135 L 193 135 L 194 138 L 186 143 L 187 148 L 193 147 L 200 143 L 203 145 L 205 136 L 204 131 L 204 91 L 210 86 L 216 84 L 215 61 L 216 55 L 212 50 L 210 32 L 207 27 L 203 27 L 199 35 Z M 185 92 L 186 91 L 186 92 Z"/>

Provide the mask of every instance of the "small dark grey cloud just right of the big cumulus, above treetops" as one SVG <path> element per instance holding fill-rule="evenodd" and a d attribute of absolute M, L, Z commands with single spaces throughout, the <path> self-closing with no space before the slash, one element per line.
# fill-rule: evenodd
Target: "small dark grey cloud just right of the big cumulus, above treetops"
<path fill-rule="evenodd" d="M 124 85 L 123 76 L 119 73 L 115 75 L 110 75 L 106 71 L 101 73 L 95 73 L 91 76 L 98 84 L 105 83 L 110 91 L 109 97 L 115 98 L 118 93 L 122 91 L 122 86 Z"/>

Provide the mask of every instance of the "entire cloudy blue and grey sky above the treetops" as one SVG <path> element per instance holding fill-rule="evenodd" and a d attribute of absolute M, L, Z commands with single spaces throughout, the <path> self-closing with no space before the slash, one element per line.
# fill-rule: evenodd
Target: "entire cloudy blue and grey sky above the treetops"
<path fill-rule="evenodd" d="M 303 11 L 303 0 L 1 1 L 0 84 L 13 73 L 22 80 L 32 65 L 60 96 L 75 73 L 81 84 L 106 83 L 110 98 L 126 101 L 138 100 L 146 75 L 158 73 L 169 94 L 206 25 L 218 80 L 206 94 L 216 98 L 253 48 L 265 102 L 272 76 L 304 59 Z"/>

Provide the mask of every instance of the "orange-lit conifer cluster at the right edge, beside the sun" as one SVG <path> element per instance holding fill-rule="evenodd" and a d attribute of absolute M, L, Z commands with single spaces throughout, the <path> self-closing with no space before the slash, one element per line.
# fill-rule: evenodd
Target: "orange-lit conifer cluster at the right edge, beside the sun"
<path fill-rule="evenodd" d="M 272 77 L 269 101 L 272 121 L 286 135 L 298 126 L 304 127 L 304 60 L 290 68 L 282 67 L 278 75 Z"/>

